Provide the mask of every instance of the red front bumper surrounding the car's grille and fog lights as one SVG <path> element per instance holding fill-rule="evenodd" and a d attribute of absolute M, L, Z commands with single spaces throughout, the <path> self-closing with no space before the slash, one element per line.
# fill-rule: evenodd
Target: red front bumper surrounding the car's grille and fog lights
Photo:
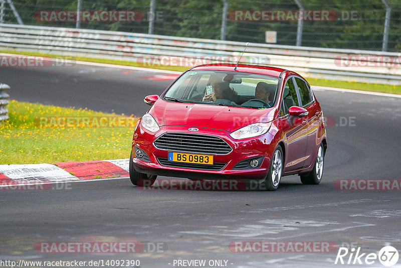
<path fill-rule="evenodd" d="M 269 143 L 273 138 L 269 132 L 260 137 L 234 140 L 229 136 L 230 133 L 228 131 L 202 127 L 198 127 L 198 129 L 199 130 L 196 131 L 196 134 L 219 137 L 233 149 L 226 155 L 214 155 L 215 163 L 224 164 L 224 167 L 220 170 L 206 170 L 201 169 L 202 167 L 184 168 L 166 166 L 166 162 L 161 160 L 167 159 L 168 152 L 174 151 L 158 149 L 154 146 L 153 142 L 166 132 L 191 133 L 191 131 L 188 130 L 188 126 L 162 126 L 159 131 L 152 133 L 143 129 L 140 126 L 140 123 L 138 123 L 135 128 L 132 149 L 134 149 L 134 146 L 141 149 L 149 156 L 151 163 L 138 159 L 135 157 L 135 154 L 132 154 L 135 170 L 140 173 L 151 175 L 207 180 L 261 180 L 267 175 L 271 154 L 274 150 Z M 241 170 L 233 169 L 239 162 L 257 157 L 263 160 L 260 167 Z M 207 165 L 204 165 L 204 167 L 208 168 Z"/>

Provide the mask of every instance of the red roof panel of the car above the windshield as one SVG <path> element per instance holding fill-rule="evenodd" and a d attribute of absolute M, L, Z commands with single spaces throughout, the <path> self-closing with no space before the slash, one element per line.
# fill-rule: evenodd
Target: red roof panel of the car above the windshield
<path fill-rule="evenodd" d="M 213 70 L 213 71 L 234 71 L 234 63 L 215 63 L 215 64 L 203 64 L 193 67 L 191 70 Z M 261 65 L 251 65 L 251 64 L 238 64 L 237 72 L 245 73 L 256 73 L 265 74 L 275 77 L 280 77 L 280 74 L 286 69 L 271 67 L 271 66 L 261 66 Z"/>

